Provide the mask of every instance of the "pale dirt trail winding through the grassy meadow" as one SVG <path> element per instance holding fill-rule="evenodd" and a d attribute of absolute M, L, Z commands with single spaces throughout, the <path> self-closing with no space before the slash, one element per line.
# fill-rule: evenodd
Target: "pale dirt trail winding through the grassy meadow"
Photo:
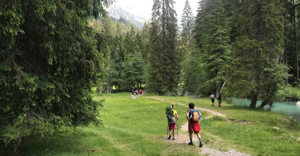
<path fill-rule="evenodd" d="M 149 98 L 149 97 L 146 97 L 146 98 Z M 150 99 L 155 99 L 155 100 L 160 100 L 160 101 L 166 102 L 166 100 L 159 99 L 159 98 L 150 98 Z M 172 102 L 172 103 L 174 103 L 174 102 Z M 188 107 L 187 105 L 182 104 L 182 103 L 177 103 L 177 104 Z M 206 112 L 209 112 L 209 113 L 211 113 L 213 115 L 226 117 L 225 114 L 216 112 L 216 111 L 211 110 L 211 109 L 201 108 L 201 107 L 195 107 L 195 109 L 206 111 Z M 211 118 L 211 117 L 212 116 L 208 116 L 208 117 L 204 117 L 203 119 L 205 119 L 205 118 Z M 180 129 L 182 131 L 186 131 L 187 132 L 188 131 L 188 123 L 186 123 L 185 125 L 182 125 L 180 127 Z M 217 137 L 217 136 L 214 136 L 214 137 Z M 216 139 L 217 140 L 222 140 L 220 138 L 216 138 Z M 175 136 L 175 140 L 172 140 L 172 139 L 168 140 L 167 136 L 164 137 L 164 138 L 162 138 L 162 140 L 166 141 L 166 142 L 170 142 L 170 143 L 188 144 L 190 142 L 190 137 L 189 137 L 188 134 L 178 134 L 178 137 Z M 193 134 L 193 139 L 192 140 L 193 140 L 194 145 L 199 146 L 199 139 L 198 139 L 198 137 L 195 134 Z M 228 156 L 250 156 L 250 155 L 247 155 L 246 153 L 235 151 L 234 149 L 229 149 L 227 152 L 224 152 L 224 151 L 220 151 L 218 149 L 213 149 L 213 148 L 205 147 L 205 140 L 204 140 L 204 143 L 203 143 L 203 147 L 199 148 L 199 152 L 198 153 L 200 155 L 211 155 L 211 156 L 223 156 L 223 155 L 228 155 Z"/>

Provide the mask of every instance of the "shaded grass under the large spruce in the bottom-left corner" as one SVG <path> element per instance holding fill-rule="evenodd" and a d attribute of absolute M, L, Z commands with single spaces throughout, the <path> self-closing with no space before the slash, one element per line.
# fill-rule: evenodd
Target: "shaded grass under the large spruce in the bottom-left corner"
<path fill-rule="evenodd" d="M 95 146 L 97 145 L 97 146 Z M 13 144 L 0 144 L 0 155 L 101 155 L 107 152 L 115 155 L 120 152 L 109 140 L 93 132 L 78 134 L 67 132 L 54 134 L 50 138 L 22 137 L 22 142 L 14 150 Z M 14 152 L 15 151 L 15 152 Z M 102 153 L 105 151 L 105 153 Z"/>

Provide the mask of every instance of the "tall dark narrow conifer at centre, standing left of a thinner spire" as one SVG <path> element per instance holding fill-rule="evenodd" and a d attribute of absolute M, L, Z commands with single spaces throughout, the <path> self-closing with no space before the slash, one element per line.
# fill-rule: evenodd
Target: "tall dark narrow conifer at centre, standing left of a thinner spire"
<path fill-rule="evenodd" d="M 173 0 L 154 0 L 151 18 L 148 88 L 163 94 L 178 84 L 176 32 L 177 14 Z"/>

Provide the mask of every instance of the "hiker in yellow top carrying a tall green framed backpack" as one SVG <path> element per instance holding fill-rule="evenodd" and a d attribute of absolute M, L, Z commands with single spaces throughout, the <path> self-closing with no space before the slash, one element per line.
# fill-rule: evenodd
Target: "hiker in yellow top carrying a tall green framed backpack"
<path fill-rule="evenodd" d="M 171 130 L 173 130 L 173 139 L 172 140 L 175 140 L 174 136 L 175 136 L 175 129 L 176 129 L 176 120 L 178 121 L 179 115 L 178 115 L 177 111 L 174 109 L 173 104 L 167 106 L 166 115 L 167 115 L 167 122 L 168 122 L 168 128 L 169 128 L 168 139 L 169 140 L 171 139 L 171 137 L 172 137 Z"/>

